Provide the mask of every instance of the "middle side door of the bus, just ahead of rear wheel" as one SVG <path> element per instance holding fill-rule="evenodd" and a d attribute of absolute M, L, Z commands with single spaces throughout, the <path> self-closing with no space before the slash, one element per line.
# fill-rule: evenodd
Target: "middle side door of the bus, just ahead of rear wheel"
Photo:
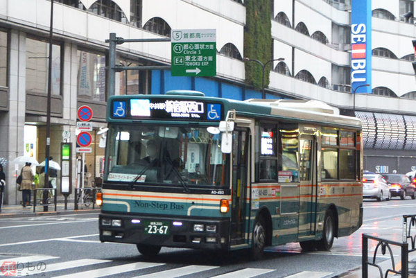
<path fill-rule="evenodd" d="M 315 234 L 317 209 L 316 137 L 300 137 L 300 214 L 299 236 Z"/>

